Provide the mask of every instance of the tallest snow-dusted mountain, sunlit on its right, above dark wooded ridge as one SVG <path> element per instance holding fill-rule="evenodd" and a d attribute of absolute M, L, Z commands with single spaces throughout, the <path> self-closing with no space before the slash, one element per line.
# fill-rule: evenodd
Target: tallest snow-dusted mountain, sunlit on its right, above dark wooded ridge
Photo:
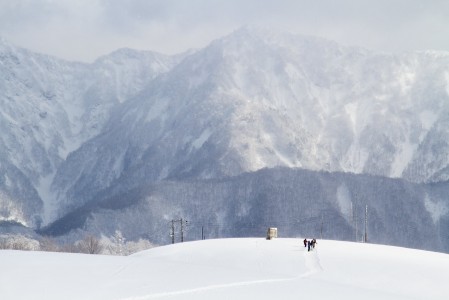
<path fill-rule="evenodd" d="M 111 184 L 275 166 L 447 180 L 448 70 L 449 54 L 393 56 L 243 29 L 123 105 L 53 187 L 79 202 Z"/>

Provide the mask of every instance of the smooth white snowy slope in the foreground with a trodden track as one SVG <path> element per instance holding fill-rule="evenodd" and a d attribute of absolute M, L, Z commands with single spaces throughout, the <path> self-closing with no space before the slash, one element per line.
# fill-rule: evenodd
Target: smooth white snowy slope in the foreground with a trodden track
<path fill-rule="evenodd" d="M 129 257 L 1 251 L 0 297 L 16 299 L 447 299 L 449 256 L 301 239 L 225 239 Z"/>

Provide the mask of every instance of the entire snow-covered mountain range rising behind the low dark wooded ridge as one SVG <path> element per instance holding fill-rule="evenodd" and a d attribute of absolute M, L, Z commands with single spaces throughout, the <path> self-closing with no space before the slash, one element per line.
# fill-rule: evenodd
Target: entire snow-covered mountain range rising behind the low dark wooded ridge
<path fill-rule="evenodd" d="M 449 53 L 254 28 L 93 64 L 0 49 L 4 219 L 35 226 L 152 183 L 278 166 L 449 179 Z"/>

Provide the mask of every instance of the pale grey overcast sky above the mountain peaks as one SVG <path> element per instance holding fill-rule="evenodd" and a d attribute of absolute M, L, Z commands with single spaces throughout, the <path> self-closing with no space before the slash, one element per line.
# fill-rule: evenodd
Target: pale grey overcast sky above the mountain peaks
<path fill-rule="evenodd" d="M 449 51 L 449 0 L 0 0 L 0 37 L 87 62 L 122 47 L 179 53 L 244 25 L 385 52 Z"/>

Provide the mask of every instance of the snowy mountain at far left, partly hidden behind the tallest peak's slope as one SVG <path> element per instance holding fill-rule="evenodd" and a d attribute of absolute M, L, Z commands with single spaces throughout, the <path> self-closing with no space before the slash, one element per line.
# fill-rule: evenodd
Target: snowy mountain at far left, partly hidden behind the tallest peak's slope
<path fill-rule="evenodd" d="M 52 220 L 50 185 L 67 155 L 99 134 L 111 112 L 179 57 L 122 49 L 94 64 L 62 61 L 0 41 L 0 216 Z"/>

